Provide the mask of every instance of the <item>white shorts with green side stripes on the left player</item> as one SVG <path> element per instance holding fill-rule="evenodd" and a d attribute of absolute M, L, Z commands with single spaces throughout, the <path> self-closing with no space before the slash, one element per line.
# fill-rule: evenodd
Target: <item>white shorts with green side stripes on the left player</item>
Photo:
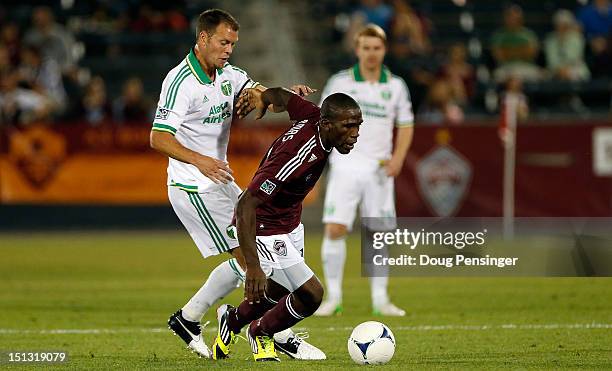
<path fill-rule="evenodd" d="M 239 246 L 238 239 L 228 227 L 241 192 L 234 182 L 204 193 L 168 187 L 168 198 L 174 212 L 205 258 Z"/>

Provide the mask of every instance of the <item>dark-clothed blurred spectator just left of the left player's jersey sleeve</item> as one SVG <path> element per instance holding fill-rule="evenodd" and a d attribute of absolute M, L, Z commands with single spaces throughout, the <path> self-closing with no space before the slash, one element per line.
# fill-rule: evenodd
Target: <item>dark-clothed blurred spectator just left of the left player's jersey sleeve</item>
<path fill-rule="evenodd" d="M 132 77 L 123 84 L 121 96 L 113 102 L 113 118 L 118 122 L 148 124 L 152 117 L 151 107 L 144 96 L 142 81 Z"/>

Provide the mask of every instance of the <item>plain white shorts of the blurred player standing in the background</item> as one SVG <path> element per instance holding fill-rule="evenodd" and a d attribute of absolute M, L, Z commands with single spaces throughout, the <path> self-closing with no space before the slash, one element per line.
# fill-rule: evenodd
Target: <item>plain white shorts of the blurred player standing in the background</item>
<path fill-rule="evenodd" d="M 395 186 L 393 177 L 383 167 L 373 172 L 355 172 L 330 165 L 323 223 L 345 225 L 353 229 L 359 205 L 362 217 L 377 219 L 368 225 L 374 230 L 389 230 L 395 225 Z"/>

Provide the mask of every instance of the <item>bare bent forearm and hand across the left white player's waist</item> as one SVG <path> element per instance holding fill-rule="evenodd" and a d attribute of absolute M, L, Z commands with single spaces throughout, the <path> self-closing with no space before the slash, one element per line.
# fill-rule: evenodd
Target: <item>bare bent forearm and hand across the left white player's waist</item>
<path fill-rule="evenodd" d="M 215 183 L 228 183 L 233 180 L 233 172 L 227 162 L 201 155 L 184 147 L 170 133 L 151 130 L 150 145 L 166 156 L 194 165 Z"/>

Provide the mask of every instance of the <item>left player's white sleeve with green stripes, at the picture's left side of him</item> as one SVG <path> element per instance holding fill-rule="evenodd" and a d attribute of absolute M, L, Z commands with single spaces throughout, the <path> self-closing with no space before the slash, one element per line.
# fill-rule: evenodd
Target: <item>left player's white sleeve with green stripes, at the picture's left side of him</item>
<path fill-rule="evenodd" d="M 185 83 L 189 75 L 189 70 L 181 69 L 177 74 L 166 76 L 159 94 L 152 130 L 174 135 L 181 127 L 191 102 L 191 92 Z"/>

